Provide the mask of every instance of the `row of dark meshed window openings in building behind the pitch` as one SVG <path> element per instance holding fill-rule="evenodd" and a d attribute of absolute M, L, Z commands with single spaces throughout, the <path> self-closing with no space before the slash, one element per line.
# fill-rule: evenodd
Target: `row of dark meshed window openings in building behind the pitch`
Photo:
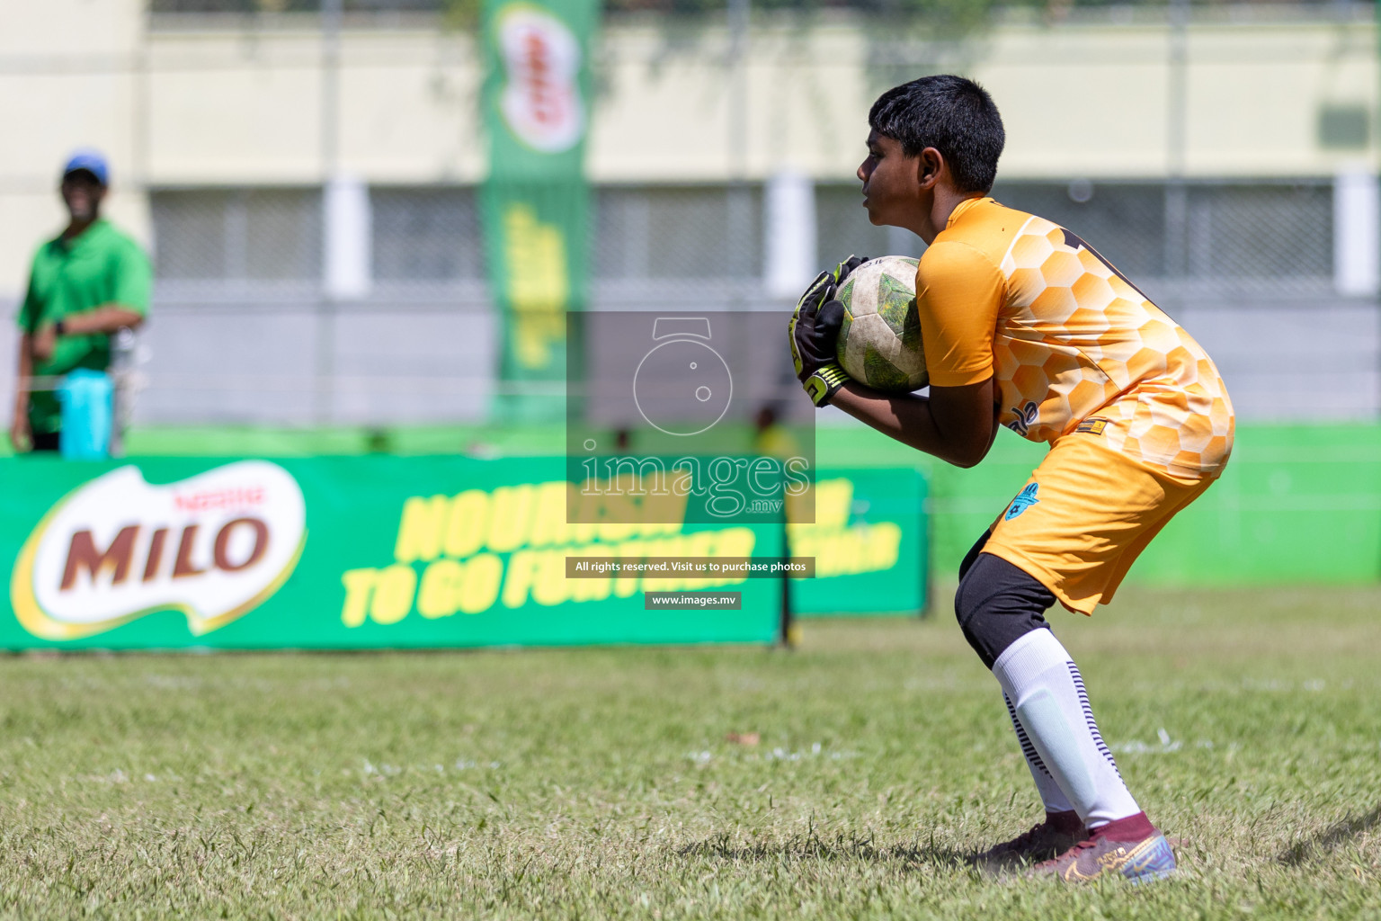
<path fill-rule="evenodd" d="M 1170 300 L 1327 297 L 1333 289 L 1333 184 L 1322 180 L 998 182 L 994 197 L 1047 217 L 1124 273 Z M 1172 228 L 1171 200 L 1185 220 Z M 370 191 L 377 286 L 446 287 L 485 278 L 474 188 Z M 322 193 L 294 189 L 163 189 L 151 196 L 163 290 L 313 291 L 322 275 Z M 592 276 L 659 286 L 762 276 L 761 185 L 610 186 L 591 221 Z M 815 186 L 822 262 L 855 251 L 920 254 L 905 231 L 867 222 L 856 184 Z"/>

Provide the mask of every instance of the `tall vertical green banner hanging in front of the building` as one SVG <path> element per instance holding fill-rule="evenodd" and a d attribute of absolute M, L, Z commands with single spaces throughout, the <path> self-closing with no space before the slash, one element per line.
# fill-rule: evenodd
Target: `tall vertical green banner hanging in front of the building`
<path fill-rule="evenodd" d="M 584 175 L 598 0 L 485 0 L 482 191 L 489 280 L 503 323 L 496 411 L 557 418 L 566 312 L 586 304 Z"/>

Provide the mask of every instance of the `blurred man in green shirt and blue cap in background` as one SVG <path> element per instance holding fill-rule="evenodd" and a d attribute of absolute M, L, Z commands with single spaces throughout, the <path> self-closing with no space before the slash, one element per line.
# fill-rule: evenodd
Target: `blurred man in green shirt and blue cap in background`
<path fill-rule="evenodd" d="M 110 366 L 110 334 L 137 327 L 149 311 L 152 269 L 135 243 L 101 218 L 110 181 L 105 157 L 79 151 L 62 170 L 68 226 L 39 247 L 19 308 L 19 378 L 10 440 L 17 452 L 58 450 L 62 409 L 30 378 Z"/>

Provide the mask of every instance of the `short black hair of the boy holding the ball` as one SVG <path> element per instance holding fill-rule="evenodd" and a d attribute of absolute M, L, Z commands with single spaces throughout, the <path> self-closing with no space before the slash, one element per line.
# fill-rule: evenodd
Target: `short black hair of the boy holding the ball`
<path fill-rule="evenodd" d="M 935 148 L 949 163 L 960 192 L 987 192 L 1007 133 L 987 90 L 949 73 L 892 87 L 877 98 L 867 123 L 902 142 L 906 156 Z"/>

